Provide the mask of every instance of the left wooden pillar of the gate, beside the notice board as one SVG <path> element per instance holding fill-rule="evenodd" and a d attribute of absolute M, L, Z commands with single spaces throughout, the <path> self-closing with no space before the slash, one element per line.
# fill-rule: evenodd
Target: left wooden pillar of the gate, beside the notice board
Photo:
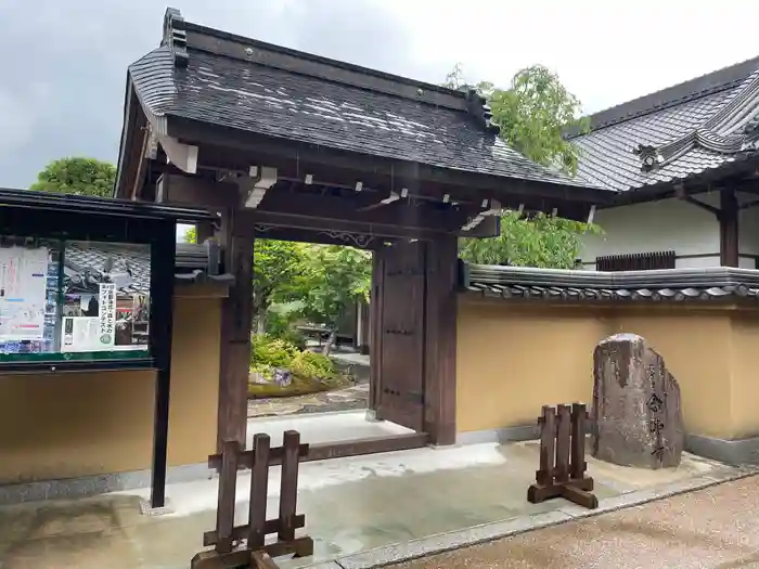
<path fill-rule="evenodd" d="M 253 227 L 241 223 L 237 209 L 223 211 L 217 236 L 223 248 L 224 270 L 234 275 L 234 284 L 223 300 L 221 312 L 219 452 L 224 440 L 245 445 L 253 322 Z"/>

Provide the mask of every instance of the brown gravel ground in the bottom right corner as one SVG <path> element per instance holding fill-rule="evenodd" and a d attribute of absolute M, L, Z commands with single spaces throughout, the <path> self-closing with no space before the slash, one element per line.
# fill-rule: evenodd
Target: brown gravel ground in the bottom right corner
<path fill-rule="evenodd" d="M 759 477 L 393 567 L 759 568 Z"/>

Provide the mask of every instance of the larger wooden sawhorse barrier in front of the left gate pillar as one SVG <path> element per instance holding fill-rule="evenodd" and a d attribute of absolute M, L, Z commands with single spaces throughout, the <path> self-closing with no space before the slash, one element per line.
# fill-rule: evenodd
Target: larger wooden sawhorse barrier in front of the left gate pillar
<path fill-rule="evenodd" d="M 193 557 L 191 569 L 276 569 L 273 557 L 313 555 L 313 540 L 295 538 L 295 530 L 306 526 L 306 516 L 296 514 L 298 465 L 308 455 L 308 444 L 300 444 L 300 434 L 287 430 L 282 447 L 271 448 L 268 435 L 256 435 L 253 449 L 243 451 L 237 441 L 224 441 L 221 454 L 208 457 L 208 467 L 219 471 L 219 503 L 216 529 L 203 534 L 203 545 L 214 551 Z M 282 465 L 280 515 L 266 519 L 269 467 Z M 244 526 L 234 525 L 234 496 L 237 470 L 250 469 L 250 505 Z M 276 541 L 265 543 L 276 533 Z M 239 547 L 245 540 L 245 547 Z"/>

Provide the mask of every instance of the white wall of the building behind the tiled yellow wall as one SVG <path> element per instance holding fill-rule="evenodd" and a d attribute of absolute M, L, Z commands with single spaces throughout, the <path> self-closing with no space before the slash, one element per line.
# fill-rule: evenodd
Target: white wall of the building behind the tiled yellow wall
<path fill-rule="evenodd" d="M 698 194 L 696 199 L 719 207 L 717 192 Z M 739 203 L 759 196 L 738 195 Z M 719 267 L 720 231 L 713 214 L 681 199 L 635 204 L 596 212 L 595 223 L 603 235 L 583 240 L 581 259 L 586 269 L 595 268 L 595 258 L 606 255 L 674 250 L 677 268 Z M 741 211 L 738 251 L 759 255 L 759 207 Z M 689 258 L 697 255 L 699 257 Z M 741 257 L 739 266 L 755 269 L 754 257 Z"/>

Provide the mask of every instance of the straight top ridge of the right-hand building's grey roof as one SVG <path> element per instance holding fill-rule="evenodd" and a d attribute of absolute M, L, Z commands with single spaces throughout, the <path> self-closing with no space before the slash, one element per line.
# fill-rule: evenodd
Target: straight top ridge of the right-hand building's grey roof
<path fill-rule="evenodd" d="M 759 69 L 759 56 L 599 111 L 588 116 L 590 132 L 733 89 L 741 86 L 757 69 Z M 568 129 L 566 132 L 568 139 L 579 138 L 582 134 L 578 128 Z"/>

